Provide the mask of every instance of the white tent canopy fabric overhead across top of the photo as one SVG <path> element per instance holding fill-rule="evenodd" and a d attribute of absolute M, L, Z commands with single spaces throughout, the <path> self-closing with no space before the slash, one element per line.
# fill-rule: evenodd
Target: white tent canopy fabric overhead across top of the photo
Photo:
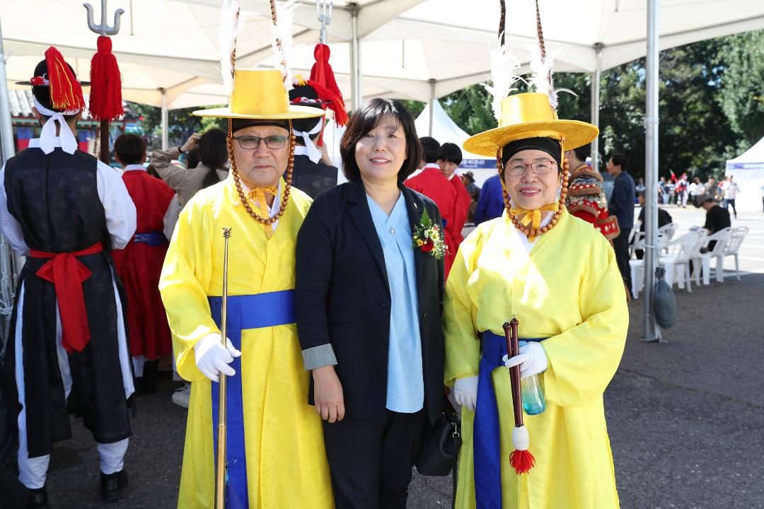
<path fill-rule="evenodd" d="M 92 1 L 93 4 L 99 2 Z M 109 9 L 127 12 L 112 37 L 125 80 L 125 98 L 170 108 L 222 104 L 217 31 L 221 0 L 112 0 Z M 487 46 L 496 39 L 496 0 L 360 0 L 361 72 L 364 98 L 429 101 L 431 80 L 442 97 L 487 79 Z M 467 5 L 465 7 L 465 5 Z M 534 2 L 507 2 L 509 43 L 527 61 L 536 43 Z M 558 72 L 591 72 L 594 45 L 603 44 L 601 68 L 643 56 L 646 0 L 540 0 L 549 53 Z M 270 49 L 270 8 L 264 0 L 244 0 L 246 24 L 238 39 L 238 66 L 274 66 Z M 336 0 L 328 27 L 332 67 L 345 98 L 350 96 L 351 11 Z M 34 16 L 33 16 L 34 11 Z M 100 7 L 95 5 L 96 18 Z M 29 23 L 35 18 L 34 24 Z M 112 16 L 108 16 L 112 18 Z M 662 0 L 661 48 L 764 27 L 759 0 Z M 0 2 L 8 79 L 28 79 L 34 63 L 54 44 L 86 76 L 96 36 L 86 27 L 80 0 Z M 111 21 L 110 21 L 111 23 Z M 43 28 L 44 27 L 44 28 Z M 60 27 L 57 29 L 55 27 Z M 79 28 L 77 28 L 79 27 Z M 296 47 L 290 65 L 306 75 L 318 41 L 316 3 L 299 0 L 293 29 Z M 576 91 L 585 93 L 586 91 Z M 348 101 L 349 104 L 349 101 Z"/>

